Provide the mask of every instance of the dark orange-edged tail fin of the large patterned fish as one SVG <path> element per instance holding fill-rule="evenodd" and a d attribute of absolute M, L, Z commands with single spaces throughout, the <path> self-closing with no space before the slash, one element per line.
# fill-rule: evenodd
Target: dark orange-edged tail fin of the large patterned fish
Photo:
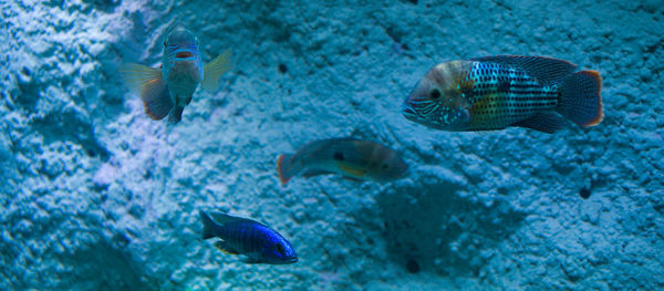
<path fill-rule="evenodd" d="M 571 74 L 560 83 L 558 113 L 582 127 L 598 125 L 604 117 L 602 77 L 596 71 Z"/>

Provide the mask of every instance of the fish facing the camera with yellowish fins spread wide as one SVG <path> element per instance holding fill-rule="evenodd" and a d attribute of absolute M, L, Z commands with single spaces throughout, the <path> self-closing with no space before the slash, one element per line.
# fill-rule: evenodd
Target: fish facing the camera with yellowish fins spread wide
<path fill-rule="evenodd" d="M 120 67 L 127 86 L 141 96 L 147 116 L 159 121 L 168 115 L 170 123 L 179 123 L 198 84 L 209 92 L 218 89 L 219 77 L 232 67 L 231 51 L 226 50 L 204 65 L 198 48 L 198 38 L 175 22 L 166 30 L 159 69 L 137 63 Z"/>

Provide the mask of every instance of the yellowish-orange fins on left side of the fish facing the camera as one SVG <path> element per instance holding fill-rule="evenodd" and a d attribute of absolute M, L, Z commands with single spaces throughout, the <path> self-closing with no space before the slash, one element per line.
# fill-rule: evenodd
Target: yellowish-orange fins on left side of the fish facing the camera
<path fill-rule="evenodd" d="M 158 121 L 168 115 L 173 102 L 159 69 L 129 63 L 122 65 L 120 73 L 127 86 L 141 95 L 147 116 Z"/>

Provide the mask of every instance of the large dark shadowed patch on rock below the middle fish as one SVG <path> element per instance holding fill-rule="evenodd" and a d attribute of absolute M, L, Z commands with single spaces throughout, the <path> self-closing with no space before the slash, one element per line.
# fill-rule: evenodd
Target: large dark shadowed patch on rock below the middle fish
<path fill-rule="evenodd" d="M 464 184 L 434 178 L 376 197 L 386 251 L 406 271 L 479 276 L 494 247 L 519 228 L 525 214 L 502 200 L 485 204 L 461 197 Z"/>

